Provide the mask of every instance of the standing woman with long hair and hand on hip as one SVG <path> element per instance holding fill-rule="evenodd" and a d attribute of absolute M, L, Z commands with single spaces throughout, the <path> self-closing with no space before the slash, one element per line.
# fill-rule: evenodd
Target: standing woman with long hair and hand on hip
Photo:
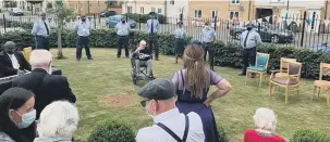
<path fill-rule="evenodd" d="M 183 53 L 184 69 L 176 70 L 172 81 L 176 87 L 176 106 L 181 113 L 197 113 L 203 121 L 206 142 L 219 142 L 211 102 L 228 94 L 231 85 L 215 72 L 206 68 L 204 49 L 188 44 Z M 207 95 L 210 86 L 218 90 Z"/>

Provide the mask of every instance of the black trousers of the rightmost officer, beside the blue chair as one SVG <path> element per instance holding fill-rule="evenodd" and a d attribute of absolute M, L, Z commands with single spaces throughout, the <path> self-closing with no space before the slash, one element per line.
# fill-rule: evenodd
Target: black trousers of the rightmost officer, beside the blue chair
<path fill-rule="evenodd" d="M 257 48 L 244 49 L 243 50 L 243 75 L 246 75 L 246 68 L 252 65 L 256 64 L 256 55 L 257 55 Z"/>

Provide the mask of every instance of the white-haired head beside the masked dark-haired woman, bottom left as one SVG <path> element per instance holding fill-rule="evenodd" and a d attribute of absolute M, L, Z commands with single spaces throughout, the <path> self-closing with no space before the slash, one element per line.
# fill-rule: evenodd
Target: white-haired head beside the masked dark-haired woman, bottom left
<path fill-rule="evenodd" d="M 38 134 L 39 137 L 72 138 L 77 129 L 78 120 L 78 111 L 73 104 L 66 101 L 53 102 L 40 114 Z"/>

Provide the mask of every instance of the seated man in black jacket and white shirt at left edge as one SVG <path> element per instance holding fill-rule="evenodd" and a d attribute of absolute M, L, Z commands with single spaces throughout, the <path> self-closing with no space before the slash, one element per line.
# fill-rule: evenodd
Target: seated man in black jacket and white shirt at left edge
<path fill-rule="evenodd" d="M 30 65 L 24 55 L 16 50 L 16 44 L 13 41 L 7 41 L 3 48 L 4 50 L 0 52 L 0 78 L 30 70 Z"/>

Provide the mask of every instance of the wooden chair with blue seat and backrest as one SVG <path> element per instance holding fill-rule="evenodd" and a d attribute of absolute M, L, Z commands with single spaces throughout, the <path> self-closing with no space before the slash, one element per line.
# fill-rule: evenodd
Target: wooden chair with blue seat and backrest
<path fill-rule="evenodd" d="M 260 78 L 259 87 L 261 87 L 262 76 L 267 75 L 268 62 L 269 62 L 269 54 L 258 52 L 257 56 L 256 56 L 256 65 L 249 66 L 246 69 L 245 85 L 246 85 L 247 79 L 249 78 L 249 75 L 257 74 L 257 75 L 259 75 L 259 78 Z"/>

